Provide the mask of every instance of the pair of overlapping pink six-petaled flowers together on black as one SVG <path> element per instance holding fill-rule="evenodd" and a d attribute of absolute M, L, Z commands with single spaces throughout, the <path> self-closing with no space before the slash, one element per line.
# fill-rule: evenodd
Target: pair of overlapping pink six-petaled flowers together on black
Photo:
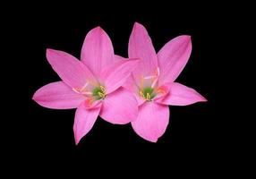
<path fill-rule="evenodd" d="M 138 135 L 156 142 L 169 121 L 167 105 L 206 101 L 195 90 L 174 82 L 191 51 L 191 38 L 179 36 L 157 54 L 147 30 L 136 22 L 126 59 L 114 54 L 107 33 L 97 27 L 84 39 L 81 61 L 47 49 L 47 60 L 62 81 L 40 88 L 33 99 L 43 107 L 77 108 L 73 124 L 76 144 L 90 132 L 98 115 L 111 124 L 131 122 Z"/>

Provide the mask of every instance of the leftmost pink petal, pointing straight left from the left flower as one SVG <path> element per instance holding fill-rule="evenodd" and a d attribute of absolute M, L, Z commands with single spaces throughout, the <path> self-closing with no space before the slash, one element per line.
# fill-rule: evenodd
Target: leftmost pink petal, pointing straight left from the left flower
<path fill-rule="evenodd" d="M 70 109 L 78 107 L 85 98 L 75 93 L 63 81 L 57 81 L 37 90 L 33 99 L 42 107 Z"/>

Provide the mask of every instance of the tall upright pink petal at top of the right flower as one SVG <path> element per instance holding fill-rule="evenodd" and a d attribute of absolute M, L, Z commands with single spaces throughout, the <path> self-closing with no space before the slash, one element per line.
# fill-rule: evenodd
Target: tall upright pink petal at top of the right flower
<path fill-rule="evenodd" d="M 132 34 L 129 39 L 128 53 L 130 58 L 141 59 L 138 67 L 133 72 L 135 78 L 141 78 L 141 76 L 149 76 L 156 73 L 158 57 L 147 30 L 140 23 L 135 22 L 133 26 Z"/>

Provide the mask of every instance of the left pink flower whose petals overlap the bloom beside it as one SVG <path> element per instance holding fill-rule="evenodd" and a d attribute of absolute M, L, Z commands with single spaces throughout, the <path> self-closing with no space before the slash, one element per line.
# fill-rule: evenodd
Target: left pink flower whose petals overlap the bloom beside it
<path fill-rule="evenodd" d="M 112 124 L 128 124 L 137 118 L 136 98 L 121 86 L 138 60 L 114 55 L 111 40 L 101 28 L 87 34 L 81 61 L 53 49 L 47 49 L 47 60 L 62 81 L 42 87 L 33 99 L 43 107 L 77 108 L 73 124 L 76 144 L 90 132 L 98 115 Z"/>

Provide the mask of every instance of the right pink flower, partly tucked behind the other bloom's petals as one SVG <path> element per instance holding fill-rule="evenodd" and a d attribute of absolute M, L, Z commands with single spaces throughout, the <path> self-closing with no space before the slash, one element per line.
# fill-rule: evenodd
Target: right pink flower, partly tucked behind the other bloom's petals
<path fill-rule="evenodd" d="M 168 105 L 186 106 L 207 101 L 197 91 L 174 82 L 188 62 L 192 51 L 190 36 L 172 39 L 156 54 L 147 30 L 133 26 L 129 40 L 129 57 L 140 58 L 124 88 L 132 91 L 139 103 L 139 115 L 132 122 L 141 138 L 157 142 L 169 122 Z"/>

